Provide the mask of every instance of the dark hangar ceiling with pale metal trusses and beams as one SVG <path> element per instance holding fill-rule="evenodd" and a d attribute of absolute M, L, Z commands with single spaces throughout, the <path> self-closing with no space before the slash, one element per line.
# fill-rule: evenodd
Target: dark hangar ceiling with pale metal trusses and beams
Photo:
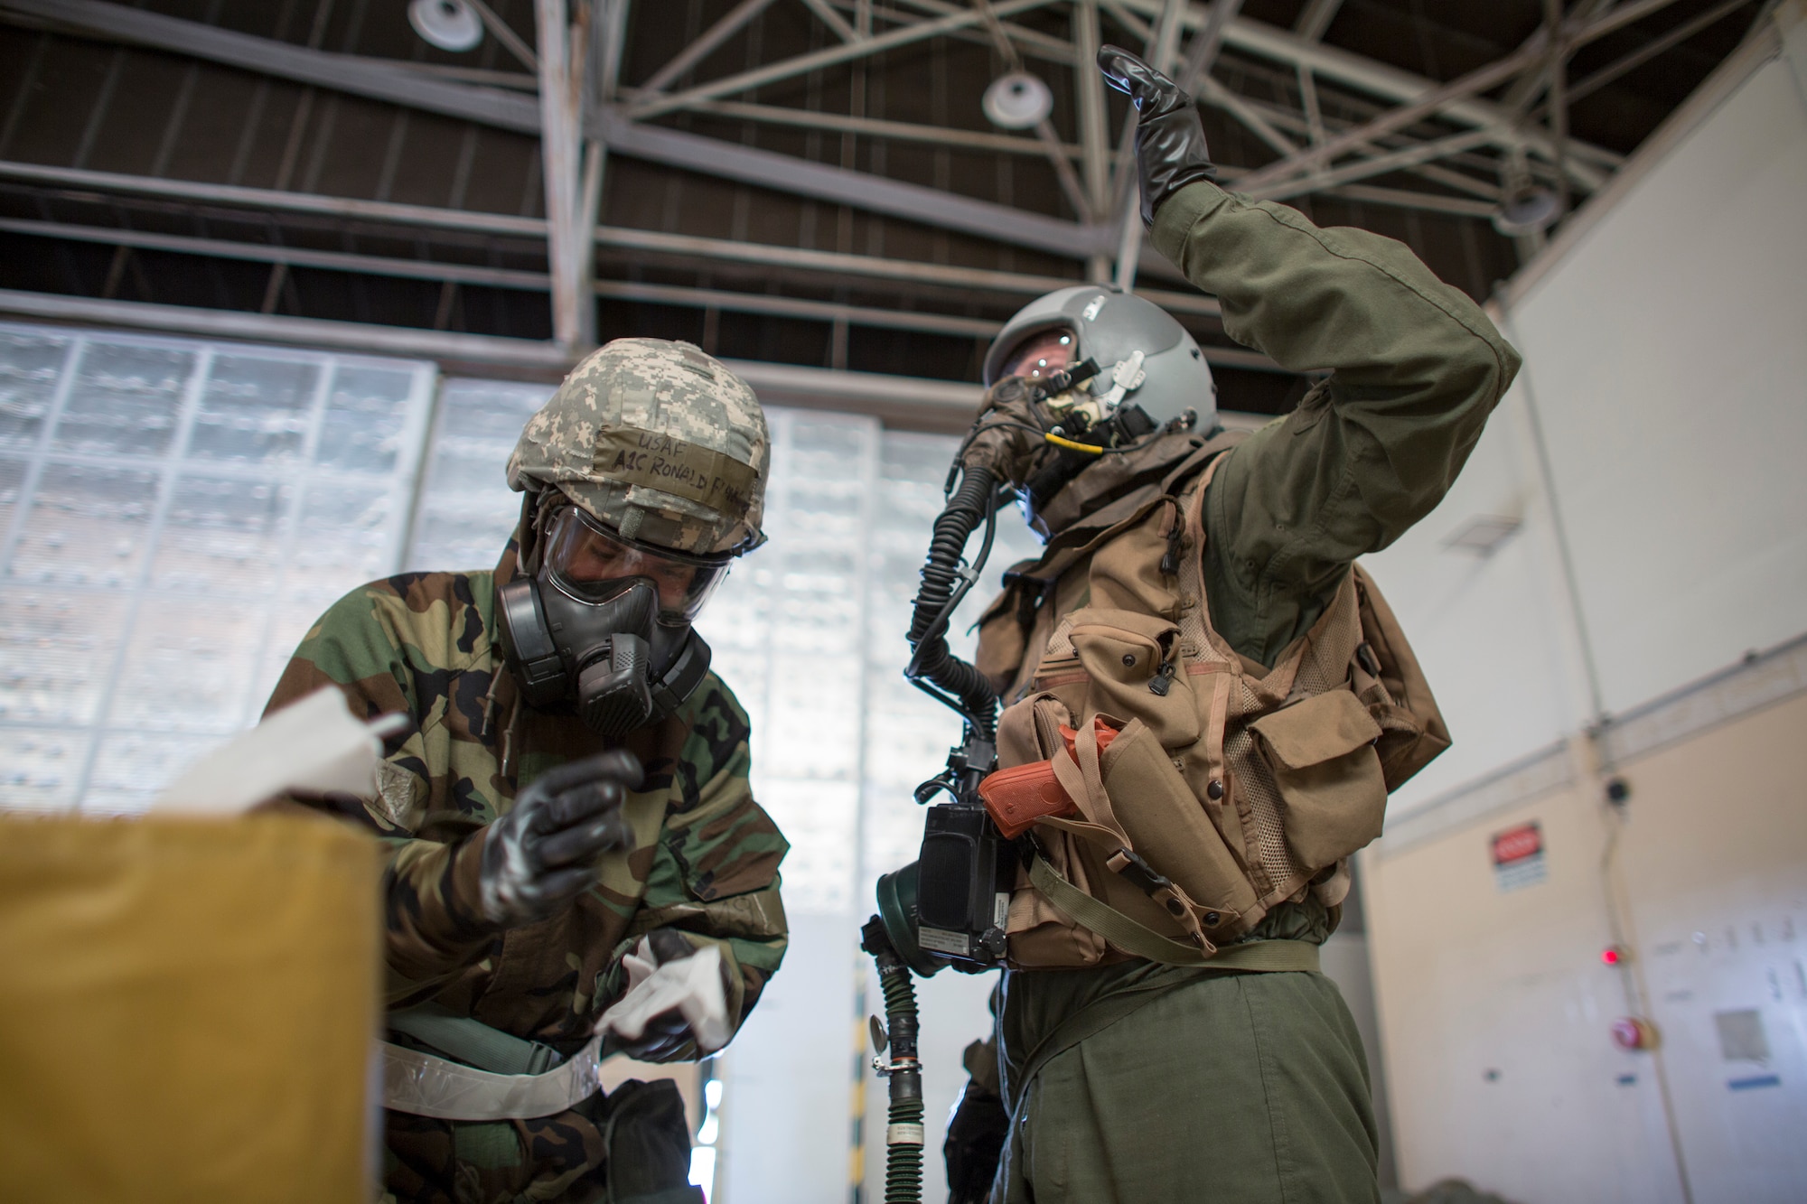
<path fill-rule="evenodd" d="M 1099 43 L 1187 83 L 1231 188 L 1485 296 L 1767 7 L 0 0 L 0 313 L 546 380 L 658 334 L 775 401 L 954 428 L 1003 318 L 1115 278 L 1225 409 L 1281 412 L 1305 381 L 1126 222 Z M 1008 72 L 1044 118 L 987 118 Z"/>

